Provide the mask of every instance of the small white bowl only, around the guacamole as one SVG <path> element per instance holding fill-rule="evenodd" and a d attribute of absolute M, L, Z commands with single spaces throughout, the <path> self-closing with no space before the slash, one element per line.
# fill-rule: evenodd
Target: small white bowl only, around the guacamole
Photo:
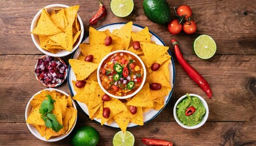
<path fill-rule="evenodd" d="M 194 125 L 194 126 L 192 126 L 192 127 L 189 127 L 189 126 L 187 126 L 187 125 L 184 125 L 182 122 L 180 122 L 179 118 L 177 117 L 177 112 L 176 112 L 176 110 L 177 110 L 177 105 L 178 105 L 183 99 L 185 99 L 185 98 L 187 97 L 187 95 L 184 95 L 184 96 L 180 97 L 180 98 L 177 100 L 177 102 L 175 103 L 174 108 L 173 108 L 173 115 L 174 115 L 174 119 L 176 120 L 177 123 L 179 123 L 179 125 L 180 125 L 181 127 L 186 128 L 186 129 L 196 129 L 196 128 L 199 128 L 199 127 L 201 127 L 202 125 L 204 125 L 204 123 L 205 123 L 206 120 L 208 119 L 209 108 L 208 108 L 207 102 L 205 102 L 205 100 L 204 100 L 201 96 L 199 96 L 199 95 L 197 95 L 197 94 L 189 94 L 189 95 L 190 95 L 191 97 L 192 97 L 192 96 L 198 97 L 198 98 L 201 100 L 202 104 L 204 105 L 204 107 L 205 107 L 205 115 L 204 115 L 204 118 L 202 119 L 202 121 L 201 121 L 200 123 L 198 123 L 197 125 Z"/>

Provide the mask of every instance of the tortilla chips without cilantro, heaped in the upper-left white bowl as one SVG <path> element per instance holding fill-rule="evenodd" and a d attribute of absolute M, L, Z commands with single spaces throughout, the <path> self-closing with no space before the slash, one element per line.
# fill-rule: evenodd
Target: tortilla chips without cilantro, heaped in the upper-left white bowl
<path fill-rule="evenodd" d="M 31 33 L 39 36 L 40 47 L 52 53 L 71 51 L 82 30 L 77 19 L 79 5 L 65 9 L 42 9 L 37 27 Z"/>

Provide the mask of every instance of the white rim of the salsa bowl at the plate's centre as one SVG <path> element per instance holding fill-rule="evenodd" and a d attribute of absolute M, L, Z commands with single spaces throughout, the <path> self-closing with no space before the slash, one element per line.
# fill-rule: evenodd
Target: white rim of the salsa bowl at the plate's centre
<path fill-rule="evenodd" d="M 107 91 L 105 90 L 105 88 L 102 86 L 102 84 L 101 84 L 101 78 L 99 77 L 99 71 L 100 71 L 100 69 L 101 69 L 102 63 L 103 63 L 108 57 L 110 57 L 110 56 L 113 55 L 113 54 L 122 53 L 122 52 L 123 52 L 123 53 L 127 53 L 127 54 L 131 54 L 132 56 L 136 57 L 136 58 L 140 61 L 141 65 L 142 65 L 142 67 L 143 67 L 143 70 L 144 70 L 144 73 L 143 73 L 143 74 L 144 74 L 144 77 L 143 77 L 143 80 L 142 80 L 142 82 L 141 82 L 141 86 L 140 86 L 135 92 L 133 92 L 133 94 L 130 94 L 130 95 L 127 95 L 127 96 L 114 96 L 113 94 L 110 94 L 109 92 L 107 92 Z M 143 85 L 144 85 L 144 83 L 145 83 L 145 81 L 146 81 L 146 74 L 147 74 L 146 67 L 145 67 L 143 61 L 141 60 L 141 58 L 138 57 L 138 55 L 136 55 L 136 54 L 134 54 L 133 52 L 130 52 L 130 51 L 128 51 L 128 50 L 116 50 L 116 51 L 110 52 L 108 55 L 106 55 L 106 56 L 101 60 L 101 63 L 99 63 L 98 70 L 97 70 L 97 78 L 98 78 L 99 86 L 101 86 L 101 89 L 105 92 L 105 94 L 108 94 L 108 96 L 114 97 L 114 98 L 116 98 L 116 99 L 127 99 L 127 98 L 129 98 L 129 97 L 135 96 L 135 94 L 137 94 L 137 93 L 141 90 L 141 88 L 143 88 Z"/>

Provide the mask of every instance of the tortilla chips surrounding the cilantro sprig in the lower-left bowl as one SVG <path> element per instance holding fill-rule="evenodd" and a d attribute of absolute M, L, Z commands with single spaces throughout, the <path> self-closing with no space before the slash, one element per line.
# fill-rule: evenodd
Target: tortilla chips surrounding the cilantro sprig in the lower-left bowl
<path fill-rule="evenodd" d="M 55 132 L 52 128 L 46 127 L 44 120 L 41 119 L 39 109 L 43 100 L 47 99 L 46 95 L 50 95 L 52 99 L 55 100 L 52 113 L 57 116 L 58 122 L 63 125 L 63 128 L 59 132 Z M 73 107 L 70 96 L 66 96 L 57 91 L 42 90 L 40 94 L 34 96 L 34 99 L 32 99 L 30 103 L 32 109 L 26 122 L 34 125 L 40 135 L 44 136 L 46 140 L 54 136 L 66 134 L 74 126 L 77 110 Z"/>

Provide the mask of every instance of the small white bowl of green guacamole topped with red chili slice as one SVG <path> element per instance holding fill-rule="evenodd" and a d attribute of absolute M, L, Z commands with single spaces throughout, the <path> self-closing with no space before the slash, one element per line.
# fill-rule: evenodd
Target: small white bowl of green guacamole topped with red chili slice
<path fill-rule="evenodd" d="M 207 102 L 201 96 L 187 93 L 177 100 L 173 114 L 181 127 L 196 129 L 206 122 L 209 109 Z"/>

